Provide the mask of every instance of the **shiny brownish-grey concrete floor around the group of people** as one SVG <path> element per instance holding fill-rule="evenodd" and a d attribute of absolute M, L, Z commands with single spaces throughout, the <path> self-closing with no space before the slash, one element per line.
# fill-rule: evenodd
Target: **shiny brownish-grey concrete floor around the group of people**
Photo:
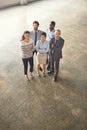
<path fill-rule="evenodd" d="M 42 30 L 55 20 L 62 30 L 57 83 L 52 76 L 24 80 L 19 40 L 33 20 Z M 87 130 L 86 0 L 44 0 L 0 11 L 0 130 Z"/>

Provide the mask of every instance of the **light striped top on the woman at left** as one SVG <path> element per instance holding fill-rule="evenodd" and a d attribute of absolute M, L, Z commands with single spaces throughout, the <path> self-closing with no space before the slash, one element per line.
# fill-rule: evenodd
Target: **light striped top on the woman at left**
<path fill-rule="evenodd" d="M 22 51 L 22 58 L 23 59 L 32 57 L 34 49 L 35 49 L 35 47 L 34 47 L 34 44 L 31 40 L 29 43 L 21 41 L 21 51 Z"/>

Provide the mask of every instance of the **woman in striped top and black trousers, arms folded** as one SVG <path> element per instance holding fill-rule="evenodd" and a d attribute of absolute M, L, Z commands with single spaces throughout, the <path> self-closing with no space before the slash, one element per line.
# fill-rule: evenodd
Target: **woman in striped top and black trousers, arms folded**
<path fill-rule="evenodd" d="M 22 51 L 22 61 L 24 65 L 24 75 L 26 80 L 32 77 L 33 72 L 33 51 L 34 51 L 34 44 L 30 39 L 30 32 L 25 31 L 22 39 L 21 39 L 21 51 Z M 28 75 L 28 62 L 30 64 L 30 72 Z"/>

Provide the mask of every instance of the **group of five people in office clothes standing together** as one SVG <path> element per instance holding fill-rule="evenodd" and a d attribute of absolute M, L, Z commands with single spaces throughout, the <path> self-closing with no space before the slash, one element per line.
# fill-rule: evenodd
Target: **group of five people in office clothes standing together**
<path fill-rule="evenodd" d="M 25 31 L 21 38 L 22 61 L 24 65 L 24 75 L 26 80 L 33 77 L 34 54 L 37 56 L 37 76 L 54 74 L 54 81 L 58 79 L 59 62 L 62 58 L 62 48 L 64 39 L 61 31 L 55 30 L 55 21 L 51 21 L 46 32 L 39 30 L 39 22 L 33 22 L 33 30 Z M 28 73 L 28 63 L 30 70 Z"/>

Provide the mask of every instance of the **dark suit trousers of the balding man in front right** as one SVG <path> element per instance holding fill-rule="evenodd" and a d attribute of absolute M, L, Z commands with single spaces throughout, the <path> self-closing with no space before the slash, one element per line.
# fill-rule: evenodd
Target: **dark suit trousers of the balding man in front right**
<path fill-rule="evenodd" d="M 54 78 L 56 80 L 59 73 L 59 63 L 60 63 L 60 59 L 55 59 L 52 57 L 52 71 L 54 72 Z"/>

